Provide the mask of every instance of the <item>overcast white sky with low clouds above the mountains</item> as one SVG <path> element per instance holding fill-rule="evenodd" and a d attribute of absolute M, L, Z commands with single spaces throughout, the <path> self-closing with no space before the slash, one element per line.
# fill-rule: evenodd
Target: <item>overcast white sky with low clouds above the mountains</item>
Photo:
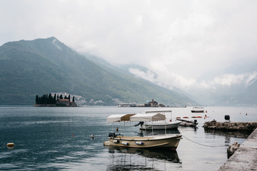
<path fill-rule="evenodd" d="M 0 0 L 0 46 L 54 36 L 161 86 L 216 88 L 252 83 L 257 71 L 223 73 L 257 63 L 254 0 Z M 154 73 L 158 76 L 155 77 Z M 206 73 L 216 73 L 211 80 Z M 218 75 L 220 74 L 220 75 Z"/>

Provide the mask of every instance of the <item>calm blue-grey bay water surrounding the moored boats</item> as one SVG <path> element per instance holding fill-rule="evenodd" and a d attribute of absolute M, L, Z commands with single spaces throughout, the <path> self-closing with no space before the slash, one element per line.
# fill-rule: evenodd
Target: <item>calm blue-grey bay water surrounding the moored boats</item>
<path fill-rule="evenodd" d="M 109 115 L 156 109 L 172 110 L 173 118 L 205 114 L 209 118 L 197 118 L 197 129 L 168 130 L 184 136 L 176 151 L 104 147 L 112 128 L 118 126 L 123 133 L 123 125 L 116 123 L 113 127 L 106 122 Z M 230 115 L 231 121 L 257 121 L 257 108 L 208 107 L 204 108 L 207 113 L 191 113 L 191 109 L 2 106 L 0 170 L 218 170 L 227 160 L 228 145 L 241 144 L 248 135 L 205 132 L 203 123 L 224 121 L 224 115 Z M 140 133 L 138 127 L 126 126 L 126 133 Z M 92 133 L 96 135 L 94 140 L 90 138 Z M 14 142 L 14 149 L 6 147 L 8 142 Z"/>

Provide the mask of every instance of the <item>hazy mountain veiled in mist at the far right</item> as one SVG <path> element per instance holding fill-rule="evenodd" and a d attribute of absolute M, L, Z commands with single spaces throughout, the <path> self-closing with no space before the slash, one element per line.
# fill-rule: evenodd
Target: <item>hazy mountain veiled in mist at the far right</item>
<path fill-rule="evenodd" d="M 221 71 L 204 73 L 198 83 L 214 83 L 213 88 L 192 88 L 193 99 L 206 105 L 256 106 L 257 63 L 240 63 Z M 223 83 L 217 83 L 221 81 Z M 227 83 L 224 83 L 227 82 Z M 199 95 L 199 96 L 197 96 Z M 188 95 L 188 97 L 192 97 Z"/>

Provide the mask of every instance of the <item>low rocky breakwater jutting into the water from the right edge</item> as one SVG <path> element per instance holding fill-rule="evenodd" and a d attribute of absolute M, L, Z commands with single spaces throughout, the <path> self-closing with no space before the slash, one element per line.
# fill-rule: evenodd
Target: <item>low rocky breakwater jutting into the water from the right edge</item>
<path fill-rule="evenodd" d="M 216 122 L 210 121 L 206 122 L 203 125 L 203 128 L 206 130 L 243 130 L 253 132 L 257 128 L 257 122 Z"/>

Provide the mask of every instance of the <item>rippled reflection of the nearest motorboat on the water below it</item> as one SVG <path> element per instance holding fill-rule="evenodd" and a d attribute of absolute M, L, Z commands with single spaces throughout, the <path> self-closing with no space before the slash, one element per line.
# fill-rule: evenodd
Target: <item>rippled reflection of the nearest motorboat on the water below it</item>
<path fill-rule="evenodd" d="M 176 150 L 108 147 L 112 162 L 107 170 L 166 170 L 166 165 L 181 165 Z M 162 164 L 161 164 L 162 163 Z M 163 163 L 165 165 L 163 165 Z"/>

